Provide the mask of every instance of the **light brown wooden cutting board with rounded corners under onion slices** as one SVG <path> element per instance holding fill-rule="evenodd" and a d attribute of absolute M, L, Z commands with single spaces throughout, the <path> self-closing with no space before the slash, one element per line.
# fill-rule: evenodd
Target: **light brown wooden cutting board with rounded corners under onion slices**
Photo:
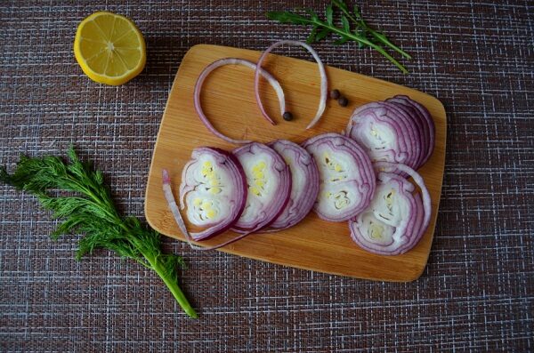
<path fill-rule="evenodd" d="M 237 57 L 256 61 L 259 55 L 260 52 L 245 49 L 200 44 L 193 46 L 183 57 L 159 127 L 146 190 L 146 217 L 150 226 L 160 233 L 184 239 L 163 196 L 162 169 L 169 170 L 174 196 L 178 198 L 182 167 L 190 159 L 193 148 L 212 146 L 231 150 L 236 147 L 214 137 L 198 119 L 193 107 L 193 87 L 198 75 L 206 65 L 217 59 Z M 226 66 L 217 68 L 207 77 L 201 97 L 206 116 L 217 129 L 243 140 L 268 142 L 287 139 L 300 143 L 323 132 L 342 132 L 352 110 L 362 104 L 385 100 L 396 94 L 409 95 L 428 108 L 436 125 L 433 156 L 419 171 L 432 196 L 433 215 L 418 245 L 398 256 L 380 256 L 360 249 L 352 242 L 346 222 L 321 221 L 314 213 L 291 229 L 251 235 L 221 250 L 256 260 L 349 277 L 384 281 L 417 279 L 425 269 L 430 253 L 440 204 L 447 135 L 447 120 L 441 102 L 428 94 L 398 84 L 327 67 L 329 88 L 339 89 L 348 98 L 349 106 L 342 108 L 336 100 L 328 100 L 320 123 L 311 130 L 305 130 L 318 105 L 320 78 L 317 65 L 312 61 L 271 55 L 264 67 L 279 79 L 286 92 L 287 108 L 295 116 L 294 120 L 286 122 L 279 117 L 276 94 L 268 84 L 262 84 L 265 107 L 278 124 L 273 126 L 265 121 L 255 103 L 253 71 L 239 66 Z M 215 245 L 234 236 L 234 233 L 227 232 L 198 244 Z"/>

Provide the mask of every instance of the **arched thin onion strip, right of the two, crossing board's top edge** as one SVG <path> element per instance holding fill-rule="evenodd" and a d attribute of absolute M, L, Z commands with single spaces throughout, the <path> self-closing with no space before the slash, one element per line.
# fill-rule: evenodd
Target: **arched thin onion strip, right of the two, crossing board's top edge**
<path fill-rule="evenodd" d="M 312 128 L 317 122 L 319 121 L 320 117 L 323 115 L 325 108 L 327 108 L 327 96 L 328 96 L 328 77 L 327 77 L 327 71 L 325 70 L 325 67 L 320 60 L 319 55 L 317 52 L 313 50 L 313 48 L 305 44 L 303 42 L 295 41 L 295 40 L 281 40 L 279 42 L 276 42 L 272 44 L 265 52 L 263 52 L 262 56 L 260 56 L 260 59 L 257 62 L 257 67 L 255 71 L 255 99 L 258 104 L 258 107 L 262 111 L 262 115 L 269 121 L 271 124 L 275 124 L 271 117 L 267 114 L 265 111 L 265 108 L 263 108 L 262 99 L 260 97 L 260 69 L 262 68 L 263 60 L 265 60 L 265 57 L 267 54 L 269 54 L 273 49 L 279 47 L 280 45 L 284 44 L 290 44 L 290 45 L 298 45 L 302 46 L 304 49 L 306 49 L 308 52 L 310 52 L 313 56 L 313 59 L 317 61 L 317 65 L 319 67 L 319 74 L 320 74 L 320 99 L 319 99 L 319 108 L 317 108 L 317 113 L 315 113 L 315 116 L 313 117 L 312 121 L 308 126 L 306 126 L 306 129 Z M 281 115 L 283 115 L 285 112 L 284 109 L 282 109 Z"/>

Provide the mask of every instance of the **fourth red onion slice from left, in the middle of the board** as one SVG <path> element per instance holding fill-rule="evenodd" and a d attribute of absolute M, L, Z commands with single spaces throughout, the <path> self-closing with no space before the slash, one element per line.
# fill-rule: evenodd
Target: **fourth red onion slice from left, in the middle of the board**
<path fill-rule="evenodd" d="M 313 210 L 325 221 L 347 221 L 363 211 L 376 188 L 371 161 L 354 140 L 324 133 L 306 140 L 305 148 L 320 173 L 319 197 Z"/>

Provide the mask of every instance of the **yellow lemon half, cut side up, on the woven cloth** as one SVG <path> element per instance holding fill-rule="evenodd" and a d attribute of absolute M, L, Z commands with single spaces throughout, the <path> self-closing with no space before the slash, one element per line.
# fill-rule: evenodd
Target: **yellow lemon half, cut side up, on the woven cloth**
<path fill-rule="evenodd" d="M 95 12 L 76 32 L 74 55 L 85 75 L 101 84 L 125 84 L 146 63 L 146 45 L 132 20 L 111 12 Z"/>

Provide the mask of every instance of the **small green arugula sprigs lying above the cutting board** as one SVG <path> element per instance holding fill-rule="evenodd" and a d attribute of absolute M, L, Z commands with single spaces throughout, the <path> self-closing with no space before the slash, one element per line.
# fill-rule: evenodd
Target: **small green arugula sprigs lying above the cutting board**
<path fill-rule="evenodd" d="M 334 20 L 334 9 L 341 11 L 339 22 L 341 26 L 337 26 Z M 357 42 L 360 48 L 370 47 L 380 52 L 387 60 L 390 60 L 397 68 L 405 74 L 408 70 L 388 52 L 384 50 L 382 45 L 385 45 L 395 52 L 399 52 L 403 57 L 411 59 L 409 53 L 404 52 L 397 45 L 392 44 L 384 33 L 378 32 L 370 28 L 361 15 L 360 9 L 354 5 L 351 12 L 347 4 L 343 0 L 333 0 L 328 4 L 325 10 L 325 20 L 321 20 L 317 12 L 310 9 L 304 10 L 305 14 L 290 11 L 272 11 L 267 12 L 267 18 L 270 20 L 278 20 L 280 23 L 290 23 L 295 25 L 312 26 L 312 31 L 308 36 L 306 42 L 312 44 L 319 42 L 328 35 L 337 35 L 339 38 L 334 44 L 344 44 L 349 40 Z M 353 26 L 351 26 L 351 21 Z"/>

